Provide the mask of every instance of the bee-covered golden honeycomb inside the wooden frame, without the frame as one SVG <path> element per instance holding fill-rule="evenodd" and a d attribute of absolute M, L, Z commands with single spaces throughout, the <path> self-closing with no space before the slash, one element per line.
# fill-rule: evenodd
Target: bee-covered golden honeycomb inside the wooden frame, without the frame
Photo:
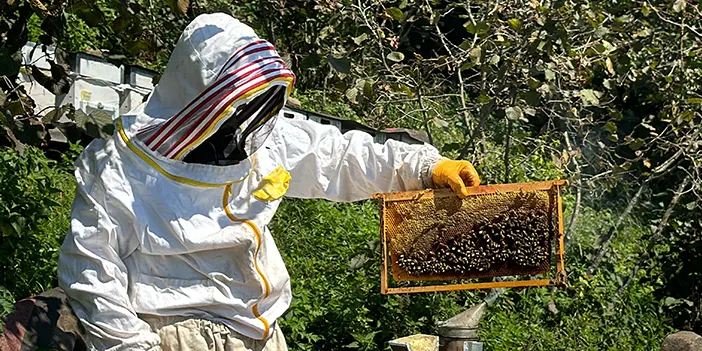
<path fill-rule="evenodd" d="M 547 190 L 386 201 L 395 280 L 547 273 L 556 223 Z"/>

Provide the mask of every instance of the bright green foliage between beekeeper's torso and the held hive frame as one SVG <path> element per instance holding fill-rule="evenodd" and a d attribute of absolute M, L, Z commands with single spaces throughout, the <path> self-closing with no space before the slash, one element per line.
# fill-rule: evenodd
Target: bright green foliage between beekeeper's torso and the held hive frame
<path fill-rule="evenodd" d="M 468 293 L 379 294 L 377 205 L 285 201 L 271 225 L 292 277 L 282 325 L 291 348 L 374 350 L 460 311 Z M 313 254 L 312 254 L 313 253 Z"/>

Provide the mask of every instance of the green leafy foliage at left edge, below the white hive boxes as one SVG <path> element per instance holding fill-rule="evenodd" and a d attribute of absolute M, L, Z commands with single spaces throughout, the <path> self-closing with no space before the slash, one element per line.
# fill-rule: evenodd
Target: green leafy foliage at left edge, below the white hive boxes
<path fill-rule="evenodd" d="M 0 149 L 0 286 L 24 298 L 55 286 L 58 249 L 68 230 L 73 177 L 42 151 Z"/>

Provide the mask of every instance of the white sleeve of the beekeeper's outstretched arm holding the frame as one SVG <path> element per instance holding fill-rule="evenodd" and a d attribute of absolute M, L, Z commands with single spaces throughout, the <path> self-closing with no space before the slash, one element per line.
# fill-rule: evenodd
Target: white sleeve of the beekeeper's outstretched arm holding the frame
<path fill-rule="evenodd" d="M 395 140 L 376 144 L 361 131 L 308 120 L 280 119 L 274 142 L 290 172 L 289 197 L 358 201 L 375 193 L 432 186 L 431 169 L 441 159 L 431 145 Z"/>

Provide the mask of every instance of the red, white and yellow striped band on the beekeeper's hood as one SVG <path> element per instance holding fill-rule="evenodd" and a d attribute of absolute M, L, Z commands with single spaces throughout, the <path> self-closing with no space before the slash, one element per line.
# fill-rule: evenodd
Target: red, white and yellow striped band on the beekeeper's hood
<path fill-rule="evenodd" d="M 188 105 L 167 121 L 142 129 L 138 138 L 161 155 L 182 160 L 231 118 L 241 119 L 239 125 L 245 128 L 247 120 L 257 120 L 259 127 L 275 117 L 272 113 L 262 119 L 256 114 L 277 109 L 241 107 L 251 102 L 256 106 L 274 103 L 275 107 L 282 107 L 294 83 L 295 75 L 273 45 L 265 40 L 251 42 L 237 50 L 215 81 Z M 285 89 L 282 101 L 272 97 L 274 94 L 265 94 L 271 89 Z M 267 101 L 254 101 L 257 98 Z"/>

